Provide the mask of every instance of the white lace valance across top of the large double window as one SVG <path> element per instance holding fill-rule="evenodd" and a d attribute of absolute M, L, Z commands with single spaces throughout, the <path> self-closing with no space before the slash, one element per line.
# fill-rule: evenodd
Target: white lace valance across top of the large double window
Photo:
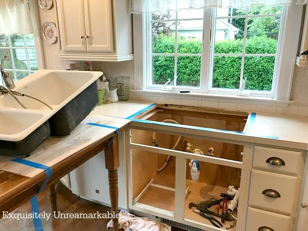
<path fill-rule="evenodd" d="M 181 9 L 245 8 L 253 5 L 304 5 L 307 0 L 129 0 L 130 13 L 166 13 Z"/>

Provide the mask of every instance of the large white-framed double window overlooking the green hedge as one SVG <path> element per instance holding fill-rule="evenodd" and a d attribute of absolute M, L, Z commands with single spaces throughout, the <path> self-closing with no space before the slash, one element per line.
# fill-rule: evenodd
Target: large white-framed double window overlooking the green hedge
<path fill-rule="evenodd" d="M 287 101 L 301 11 L 258 5 L 134 16 L 143 23 L 139 89 L 161 90 L 170 79 L 175 91 L 238 95 L 244 83 L 252 97 Z"/>

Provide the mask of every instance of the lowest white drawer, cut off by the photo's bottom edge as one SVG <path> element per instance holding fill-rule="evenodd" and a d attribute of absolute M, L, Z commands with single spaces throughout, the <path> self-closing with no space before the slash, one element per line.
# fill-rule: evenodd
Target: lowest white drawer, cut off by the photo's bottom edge
<path fill-rule="evenodd" d="M 262 230 L 261 227 L 264 226 L 272 228 L 274 231 L 290 231 L 292 230 L 291 217 L 256 208 L 248 208 L 245 231 Z M 263 230 L 266 229 L 264 228 Z"/>

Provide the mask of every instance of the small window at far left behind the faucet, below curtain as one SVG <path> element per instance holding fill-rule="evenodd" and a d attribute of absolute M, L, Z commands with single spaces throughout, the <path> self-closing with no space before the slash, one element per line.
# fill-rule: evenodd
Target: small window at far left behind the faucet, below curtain
<path fill-rule="evenodd" d="M 0 59 L 7 55 L 3 67 L 13 76 L 14 81 L 21 80 L 36 71 L 37 60 L 33 34 L 0 35 Z M 0 84 L 4 84 L 2 79 Z"/>

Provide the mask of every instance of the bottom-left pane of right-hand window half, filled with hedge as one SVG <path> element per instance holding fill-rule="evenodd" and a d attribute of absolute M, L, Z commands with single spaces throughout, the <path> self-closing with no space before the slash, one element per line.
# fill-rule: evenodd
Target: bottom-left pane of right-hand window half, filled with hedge
<path fill-rule="evenodd" d="M 240 56 L 214 57 L 213 88 L 239 89 L 240 75 Z"/>

